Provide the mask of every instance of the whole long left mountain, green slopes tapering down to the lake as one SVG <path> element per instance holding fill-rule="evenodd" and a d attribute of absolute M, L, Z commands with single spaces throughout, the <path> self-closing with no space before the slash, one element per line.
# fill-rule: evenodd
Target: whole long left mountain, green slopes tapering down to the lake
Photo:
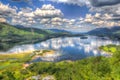
<path fill-rule="evenodd" d="M 24 26 L 12 26 L 7 23 L 0 23 L 0 50 L 5 51 L 15 45 L 36 43 L 67 35 L 69 33 L 55 33 L 52 30 L 26 28 Z"/>

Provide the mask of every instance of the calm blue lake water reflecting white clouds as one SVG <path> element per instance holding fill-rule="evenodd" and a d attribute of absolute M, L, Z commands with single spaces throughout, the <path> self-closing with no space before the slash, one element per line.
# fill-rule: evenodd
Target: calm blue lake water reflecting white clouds
<path fill-rule="evenodd" d="M 109 39 L 101 39 L 96 36 L 87 36 L 86 39 L 80 37 L 61 37 L 49 39 L 37 44 L 27 44 L 15 46 L 12 49 L 4 53 L 12 52 L 24 52 L 29 50 L 49 49 L 55 50 L 59 56 L 46 57 L 45 59 L 36 59 L 36 61 L 59 61 L 59 60 L 77 60 L 90 56 L 108 56 L 105 52 L 98 50 L 98 47 L 102 45 L 116 44 L 118 41 L 112 41 Z M 3 52 L 2 52 L 3 53 Z"/>

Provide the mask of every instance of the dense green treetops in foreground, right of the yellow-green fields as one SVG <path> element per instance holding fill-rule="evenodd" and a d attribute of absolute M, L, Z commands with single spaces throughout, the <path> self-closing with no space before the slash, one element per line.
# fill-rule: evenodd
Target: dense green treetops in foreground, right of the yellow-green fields
<path fill-rule="evenodd" d="M 120 46 L 106 47 L 113 52 L 112 57 L 91 57 L 75 62 L 40 62 L 28 69 L 36 74 L 54 75 L 57 80 L 120 80 Z"/>

